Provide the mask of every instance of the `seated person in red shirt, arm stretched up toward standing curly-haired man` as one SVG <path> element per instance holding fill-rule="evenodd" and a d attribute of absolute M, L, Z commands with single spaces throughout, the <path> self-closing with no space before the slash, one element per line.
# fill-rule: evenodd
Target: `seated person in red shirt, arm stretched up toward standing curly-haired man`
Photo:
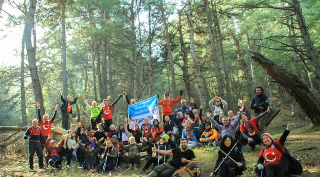
<path fill-rule="evenodd" d="M 251 147 L 251 150 L 255 150 L 256 145 L 261 143 L 261 138 L 259 134 L 259 129 L 258 129 L 258 122 L 261 118 L 264 118 L 271 112 L 270 107 L 268 107 L 267 111 L 264 113 L 260 114 L 259 116 L 252 118 L 248 120 L 248 117 L 245 113 L 241 113 L 240 120 L 240 142 L 242 142 L 243 145 L 249 144 Z"/>

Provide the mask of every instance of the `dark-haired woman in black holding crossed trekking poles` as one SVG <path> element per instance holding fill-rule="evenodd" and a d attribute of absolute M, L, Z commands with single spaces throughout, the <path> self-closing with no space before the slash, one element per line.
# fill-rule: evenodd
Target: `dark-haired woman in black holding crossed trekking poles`
<path fill-rule="evenodd" d="M 230 135 L 225 135 L 222 138 L 220 149 L 224 151 L 225 154 L 229 154 L 229 156 L 224 159 L 226 155 L 219 150 L 216 166 L 213 168 L 210 177 L 214 177 L 214 175 L 218 173 L 220 177 L 237 177 L 242 175 L 242 172 L 246 169 L 246 161 L 241 149 L 238 148 L 238 146 L 234 147 L 234 145 L 235 142 Z M 231 158 L 237 163 L 231 160 Z"/>

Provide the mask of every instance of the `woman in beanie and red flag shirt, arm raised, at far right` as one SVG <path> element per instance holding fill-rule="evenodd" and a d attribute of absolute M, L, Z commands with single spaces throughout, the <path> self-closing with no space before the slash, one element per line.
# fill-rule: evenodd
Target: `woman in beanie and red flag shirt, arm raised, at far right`
<path fill-rule="evenodd" d="M 274 140 L 270 133 L 264 133 L 261 136 L 264 148 L 261 149 L 257 163 L 258 174 L 264 174 L 266 177 L 285 177 L 288 171 L 288 161 L 283 158 L 285 151 L 285 142 L 290 130 L 295 124 L 288 123 L 286 130 L 281 137 Z M 278 149 L 281 149 L 279 151 Z M 264 164 L 264 165 L 263 165 Z M 261 172 L 263 171 L 263 172 Z"/>

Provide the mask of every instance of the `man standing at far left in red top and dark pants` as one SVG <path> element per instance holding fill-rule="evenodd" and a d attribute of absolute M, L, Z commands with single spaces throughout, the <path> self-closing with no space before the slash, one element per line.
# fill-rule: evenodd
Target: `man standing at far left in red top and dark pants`
<path fill-rule="evenodd" d="M 38 156 L 38 167 L 40 169 L 43 168 L 43 150 L 41 145 L 42 142 L 42 135 L 40 127 L 38 127 L 38 120 L 32 120 L 32 126 L 30 126 L 26 133 L 24 134 L 23 138 L 27 141 L 29 137 L 29 168 L 33 170 L 33 155 L 36 152 Z M 26 142 L 27 143 L 27 142 Z"/>

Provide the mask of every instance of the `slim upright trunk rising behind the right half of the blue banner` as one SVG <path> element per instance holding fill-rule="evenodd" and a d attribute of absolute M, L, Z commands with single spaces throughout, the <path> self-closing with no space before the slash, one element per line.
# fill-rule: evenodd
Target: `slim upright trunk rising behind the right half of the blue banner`
<path fill-rule="evenodd" d="M 151 30 L 151 4 L 148 3 L 148 26 L 149 26 L 149 35 L 148 35 L 148 58 L 149 58 L 149 96 L 153 94 L 153 59 L 152 59 L 152 30 Z"/>

